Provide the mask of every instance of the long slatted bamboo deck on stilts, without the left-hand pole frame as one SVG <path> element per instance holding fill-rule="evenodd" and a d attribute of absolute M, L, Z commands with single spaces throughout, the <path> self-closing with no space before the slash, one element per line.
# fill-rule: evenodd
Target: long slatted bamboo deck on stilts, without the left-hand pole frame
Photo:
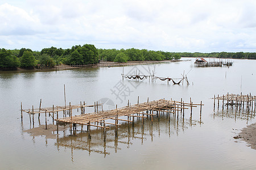
<path fill-rule="evenodd" d="M 76 124 L 80 125 L 87 125 L 87 131 L 88 136 L 90 137 L 90 126 L 94 126 L 97 128 L 104 129 L 104 140 L 106 139 L 106 129 L 109 129 L 109 126 L 106 125 L 114 125 L 115 126 L 115 136 L 117 137 L 117 131 L 118 131 L 118 121 L 125 121 L 128 123 L 134 124 L 134 118 L 147 118 L 149 116 L 151 118 L 151 124 L 153 123 L 153 116 L 155 116 L 154 112 L 156 114 L 162 113 L 183 113 L 184 117 L 184 110 L 191 108 L 191 118 L 192 118 L 192 108 L 197 107 L 197 105 L 200 105 L 200 116 L 201 116 L 201 107 L 202 102 L 200 104 L 193 104 L 190 103 L 184 103 L 184 101 L 173 101 L 173 100 L 156 100 L 156 101 L 148 101 L 146 103 L 140 103 L 139 104 L 139 97 L 138 97 L 138 104 L 130 105 L 128 101 L 128 105 L 126 107 L 122 108 L 116 108 L 114 110 L 110 111 L 101 111 L 101 112 L 94 112 L 94 113 L 87 113 L 87 114 L 81 114 L 77 116 L 71 116 L 71 117 L 64 117 L 56 119 L 58 124 L 73 124 L 73 126 L 76 126 Z M 127 116 L 127 120 L 121 119 L 120 117 Z M 113 120 L 112 122 L 106 122 L 106 120 Z M 93 124 L 94 123 L 94 124 Z M 97 124 L 97 125 L 96 125 Z"/>

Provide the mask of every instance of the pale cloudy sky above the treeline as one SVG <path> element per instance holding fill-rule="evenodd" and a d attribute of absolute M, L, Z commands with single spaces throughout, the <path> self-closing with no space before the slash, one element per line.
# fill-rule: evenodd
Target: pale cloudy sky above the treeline
<path fill-rule="evenodd" d="M 0 0 L 0 48 L 255 52 L 255 0 Z"/>

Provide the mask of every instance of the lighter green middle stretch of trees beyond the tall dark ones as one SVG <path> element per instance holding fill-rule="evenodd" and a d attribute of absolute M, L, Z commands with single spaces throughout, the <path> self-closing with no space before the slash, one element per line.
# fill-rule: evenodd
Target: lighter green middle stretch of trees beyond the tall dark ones
<path fill-rule="evenodd" d="M 180 59 L 179 54 L 170 52 L 153 51 L 146 49 L 98 49 L 98 56 L 104 61 L 162 61 L 164 59 Z"/>

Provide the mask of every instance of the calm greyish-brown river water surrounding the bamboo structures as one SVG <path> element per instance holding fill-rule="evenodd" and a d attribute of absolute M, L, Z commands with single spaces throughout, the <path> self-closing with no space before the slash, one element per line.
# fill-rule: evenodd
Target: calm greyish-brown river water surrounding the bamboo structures
<path fill-rule="evenodd" d="M 222 111 L 213 108 L 214 95 L 256 95 L 256 61 L 233 59 L 231 67 L 194 67 L 190 61 L 137 65 L 125 67 L 101 67 L 45 72 L 1 72 L 0 73 L 0 168 L 1 169 L 255 169 L 256 150 L 246 142 L 234 139 L 242 128 L 255 123 L 254 114 L 235 113 L 234 109 Z M 148 75 L 155 69 L 160 77 L 181 78 L 187 74 L 189 86 L 184 82 L 148 79 L 122 80 L 121 73 Z M 177 80 L 178 81 L 178 80 Z M 203 101 L 200 119 L 199 107 L 185 111 L 184 119 L 166 114 L 159 121 L 136 120 L 133 128 L 125 122 L 119 126 L 118 138 L 114 129 L 107 130 L 106 142 L 102 130 L 94 128 L 92 139 L 87 132 L 69 135 L 69 129 L 61 131 L 57 139 L 44 135 L 32 136 L 24 130 L 33 128 L 29 116 L 23 113 L 20 119 L 20 103 L 24 109 L 52 105 L 64 105 L 64 85 L 67 103 L 94 104 L 107 101 L 103 109 L 116 105 L 123 107 L 127 100 L 131 104 L 158 99 L 178 100 L 182 98 L 199 104 Z M 86 113 L 93 108 L 86 108 Z M 77 112 L 79 114 L 79 112 Z M 48 117 L 48 124 L 52 119 Z M 34 127 L 39 126 L 38 118 Z M 40 117 L 44 124 L 44 116 Z M 79 127 L 81 129 L 81 127 Z M 56 132 L 55 132 L 56 133 Z"/>

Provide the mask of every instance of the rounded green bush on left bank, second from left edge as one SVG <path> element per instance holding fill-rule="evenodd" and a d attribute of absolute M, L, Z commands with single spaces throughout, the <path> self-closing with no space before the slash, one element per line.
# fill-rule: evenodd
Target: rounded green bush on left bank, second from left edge
<path fill-rule="evenodd" d="M 32 69 L 36 65 L 36 59 L 33 56 L 33 53 L 30 51 L 25 51 L 20 57 L 20 66 L 26 69 Z"/>

